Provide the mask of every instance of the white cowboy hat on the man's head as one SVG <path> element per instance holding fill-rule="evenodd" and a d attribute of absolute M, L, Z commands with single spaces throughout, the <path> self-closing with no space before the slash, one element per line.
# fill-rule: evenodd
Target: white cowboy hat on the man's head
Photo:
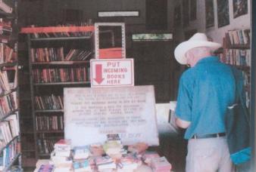
<path fill-rule="evenodd" d="M 175 48 L 174 57 L 180 64 L 186 64 L 186 52 L 191 50 L 192 48 L 199 47 L 208 47 L 214 51 L 220 48 L 221 45 L 213 41 L 208 41 L 208 38 L 204 33 L 195 33 L 195 35 L 192 35 L 192 37 L 189 38 L 188 41 L 183 41 Z"/>

